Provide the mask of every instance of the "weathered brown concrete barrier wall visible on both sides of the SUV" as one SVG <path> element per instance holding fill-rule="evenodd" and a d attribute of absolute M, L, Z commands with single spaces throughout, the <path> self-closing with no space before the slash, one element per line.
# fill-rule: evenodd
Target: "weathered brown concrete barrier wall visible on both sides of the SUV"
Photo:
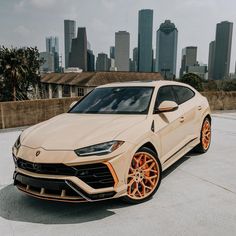
<path fill-rule="evenodd" d="M 236 92 L 204 92 L 211 110 L 236 110 Z M 79 98 L 42 99 L 0 103 L 0 129 L 28 126 L 67 112 Z"/>

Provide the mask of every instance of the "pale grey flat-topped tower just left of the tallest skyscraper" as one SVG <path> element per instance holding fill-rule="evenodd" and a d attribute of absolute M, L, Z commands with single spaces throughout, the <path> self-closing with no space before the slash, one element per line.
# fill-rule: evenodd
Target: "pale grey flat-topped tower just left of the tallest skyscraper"
<path fill-rule="evenodd" d="M 117 71 L 129 71 L 130 35 L 126 31 L 115 34 L 115 65 Z"/>

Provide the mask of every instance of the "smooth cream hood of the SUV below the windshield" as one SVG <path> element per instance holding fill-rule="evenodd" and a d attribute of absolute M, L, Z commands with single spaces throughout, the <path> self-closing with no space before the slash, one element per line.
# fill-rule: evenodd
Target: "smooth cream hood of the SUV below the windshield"
<path fill-rule="evenodd" d="M 115 140 L 119 134 L 144 121 L 146 117 L 66 113 L 28 128 L 21 136 L 21 143 L 30 148 L 75 150 Z"/>

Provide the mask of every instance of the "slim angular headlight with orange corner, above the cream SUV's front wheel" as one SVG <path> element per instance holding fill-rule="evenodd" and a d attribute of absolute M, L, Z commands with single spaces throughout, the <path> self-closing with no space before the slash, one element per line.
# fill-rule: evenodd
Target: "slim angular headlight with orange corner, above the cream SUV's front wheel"
<path fill-rule="evenodd" d="M 110 141 L 75 150 L 78 156 L 106 155 L 119 148 L 124 141 Z"/>

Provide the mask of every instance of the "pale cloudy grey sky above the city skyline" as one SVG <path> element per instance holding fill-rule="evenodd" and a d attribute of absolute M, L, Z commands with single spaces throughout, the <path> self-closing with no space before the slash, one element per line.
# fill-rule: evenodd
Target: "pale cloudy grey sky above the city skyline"
<path fill-rule="evenodd" d="M 37 46 L 46 50 L 45 38 L 58 36 L 64 64 L 64 19 L 86 27 L 95 54 L 109 52 L 115 32 L 130 33 L 131 52 L 137 46 L 138 11 L 153 9 L 153 48 L 156 31 L 166 19 L 177 27 L 178 60 L 186 46 L 198 47 L 198 61 L 208 63 L 209 43 L 215 39 L 216 24 L 228 20 L 236 25 L 235 0 L 0 0 L 0 45 Z M 235 30 L 234 30 L 235 31 Z M 236 61 L 233 33 L 231 72 Z"/>

